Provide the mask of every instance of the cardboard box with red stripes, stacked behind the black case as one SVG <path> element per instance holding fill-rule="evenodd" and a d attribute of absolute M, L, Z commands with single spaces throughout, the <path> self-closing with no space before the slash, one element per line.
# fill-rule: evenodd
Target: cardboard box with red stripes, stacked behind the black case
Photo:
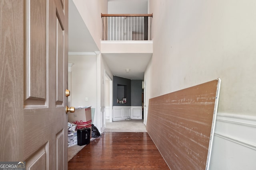
<path fill-rule="evenodd" d="M 68 122 L 76 124 L 76 129 L 89 127 L 92 129 L 91 107 L 75 109 L 74 113 L 68 113 Z M 92 136 L 92 131 L 91 131 Z"/>

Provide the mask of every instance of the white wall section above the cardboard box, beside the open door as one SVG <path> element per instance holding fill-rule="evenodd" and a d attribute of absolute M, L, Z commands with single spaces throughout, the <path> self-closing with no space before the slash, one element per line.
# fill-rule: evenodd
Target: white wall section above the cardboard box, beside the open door
<path fill-rule="evenodd" d="M 68 63 L 73 63 L 72 72 L 68 74 L 71 81 L 69 84 L 71 86 L 72 106 L 92 106 L 96 108 L 96 55 L 70 55 L 68 56 Z M 86 101 L 86 97 L 88 101 Z"/>

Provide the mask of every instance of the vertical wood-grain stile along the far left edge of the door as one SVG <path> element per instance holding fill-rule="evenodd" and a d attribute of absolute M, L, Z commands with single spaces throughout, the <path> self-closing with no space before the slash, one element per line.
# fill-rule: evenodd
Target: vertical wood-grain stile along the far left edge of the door
<path fill-rule="evenodd" d="M 0 161 L 22 161 L 23 1 L 0 1 Z"/>

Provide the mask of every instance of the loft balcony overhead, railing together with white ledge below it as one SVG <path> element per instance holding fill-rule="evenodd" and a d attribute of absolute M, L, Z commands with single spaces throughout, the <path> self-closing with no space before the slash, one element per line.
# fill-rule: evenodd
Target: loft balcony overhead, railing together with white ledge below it
<path fill-rule="evenodd" d="M 153 14 L 101 14 L 102 53 L 152 53 Z"/>

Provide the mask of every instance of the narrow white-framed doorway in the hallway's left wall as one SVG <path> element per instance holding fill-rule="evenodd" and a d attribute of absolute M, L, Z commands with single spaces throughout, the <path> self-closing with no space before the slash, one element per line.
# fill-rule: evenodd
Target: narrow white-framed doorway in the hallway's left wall
<path fill-rule="evenodd" d="M 113 82 L 105 72 L 105 122 L 112 122 Z"/>

